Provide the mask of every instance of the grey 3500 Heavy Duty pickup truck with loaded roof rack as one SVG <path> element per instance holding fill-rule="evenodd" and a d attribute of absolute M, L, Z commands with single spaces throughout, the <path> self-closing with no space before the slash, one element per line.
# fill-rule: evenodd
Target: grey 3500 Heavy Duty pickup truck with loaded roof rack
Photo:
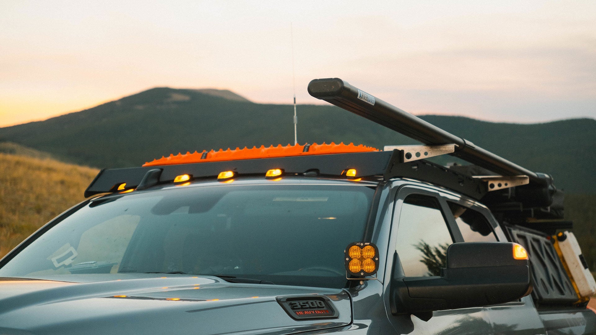
<path fill-rule="evenodd" d="M 309 92 L 423 145 L 101 170 L 0 260 L 0 334 L 596 334 L 550 176 L 341 79 Z"/>

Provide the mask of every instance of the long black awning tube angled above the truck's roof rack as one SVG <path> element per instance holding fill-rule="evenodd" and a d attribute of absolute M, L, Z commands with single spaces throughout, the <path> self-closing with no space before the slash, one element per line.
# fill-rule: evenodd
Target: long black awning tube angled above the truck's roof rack
<path fill-rule="evenodd" d="M 455 144 L 452 156 L 481 166 L 504 176 L 527 175 L 530 185 L 548 187 L 552 178 L 545 173 L 535 173 L 497 156 L 472 142 L 457 137 L 432 124 L 392 106 L 350 85 L 339 78 L 314 79 L 308 84 L 308 92 L 313 97 L 325 100 L 347 111 L 386 126 L 423 144 Z"/>

